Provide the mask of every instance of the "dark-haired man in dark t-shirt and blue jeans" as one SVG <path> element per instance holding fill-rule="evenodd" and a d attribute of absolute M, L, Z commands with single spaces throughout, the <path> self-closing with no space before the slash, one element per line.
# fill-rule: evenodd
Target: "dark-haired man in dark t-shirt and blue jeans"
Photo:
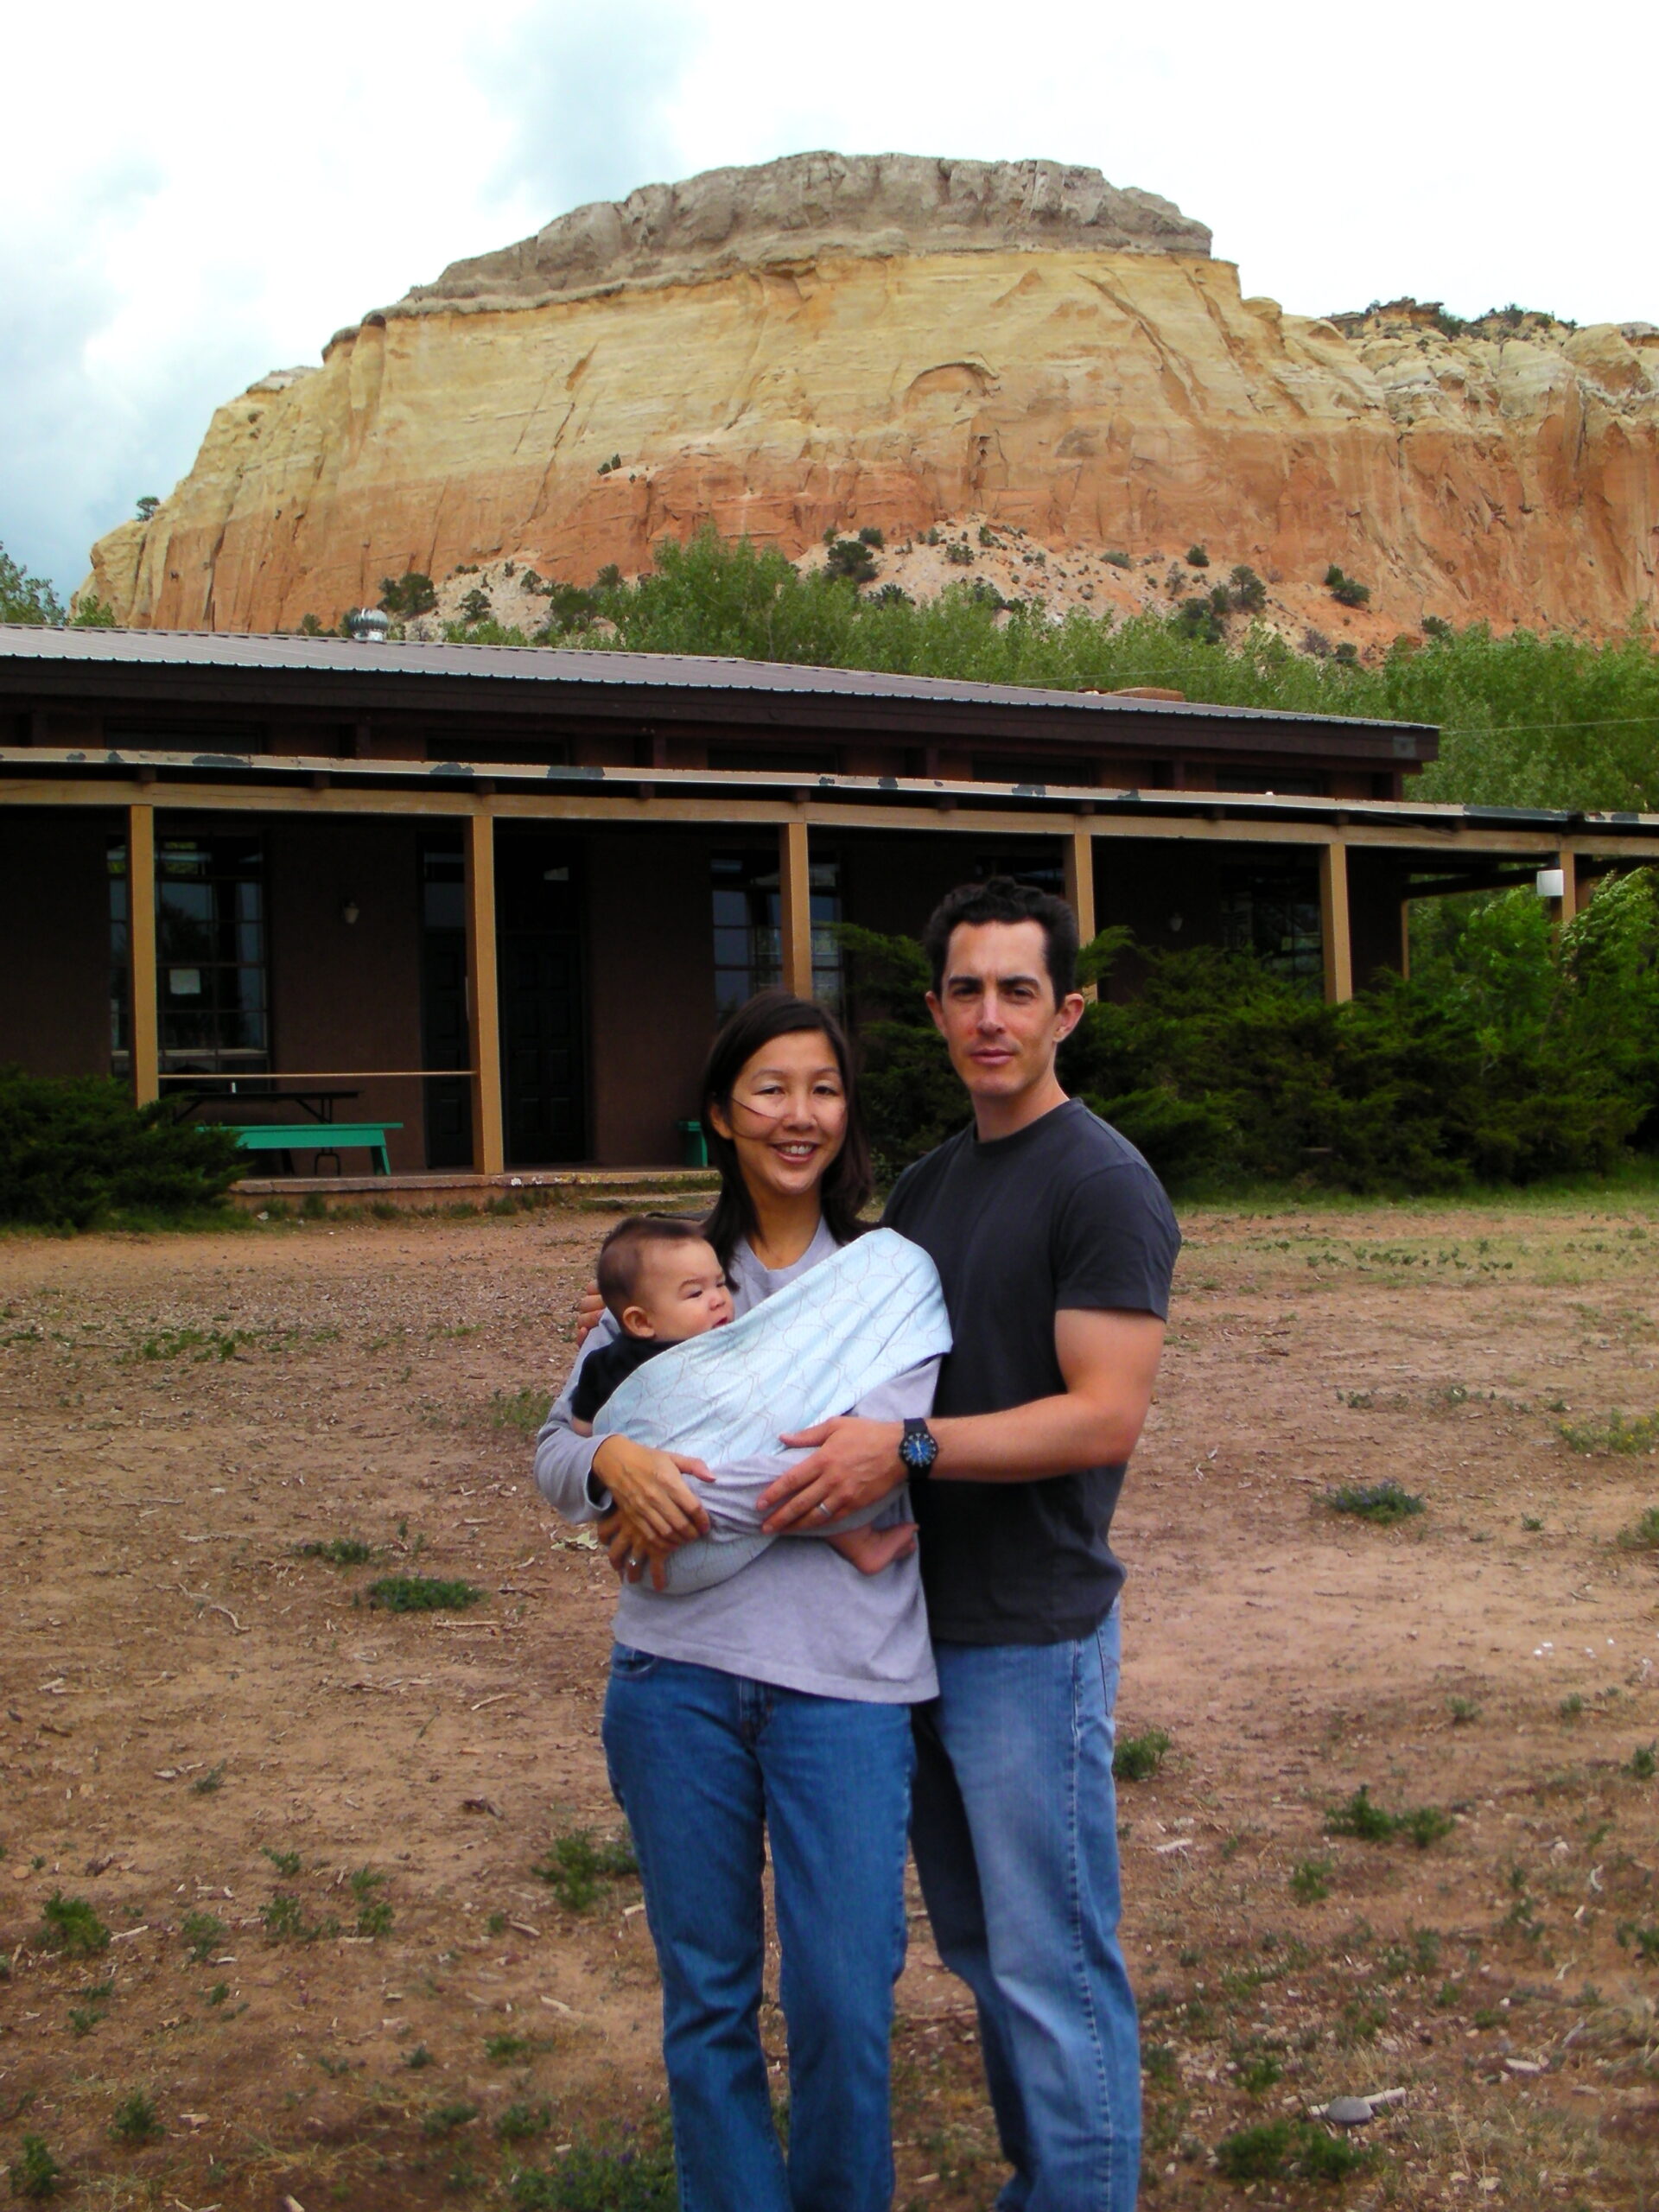
<path fill-rule="evenodd" d="M 1152 1402 L 1179 1230 L 1157 1177 L 1068 1099 L 1077 925 L 1006 878 L 925 931 L 927 1004 L 973 1126 L 909 1168 L 887 1225 L 936 1261 L 953 1352 L 931 1422 L 825 1422 L 770 1528 L 909 1475 L 940 1697 L 918 1710 L 911 1840 L 940 1955 L 971 1986 L 1000 2212 L 1130 2212 L 1139 2042 L 1117 1940 L 1108 1531 Z"/>

